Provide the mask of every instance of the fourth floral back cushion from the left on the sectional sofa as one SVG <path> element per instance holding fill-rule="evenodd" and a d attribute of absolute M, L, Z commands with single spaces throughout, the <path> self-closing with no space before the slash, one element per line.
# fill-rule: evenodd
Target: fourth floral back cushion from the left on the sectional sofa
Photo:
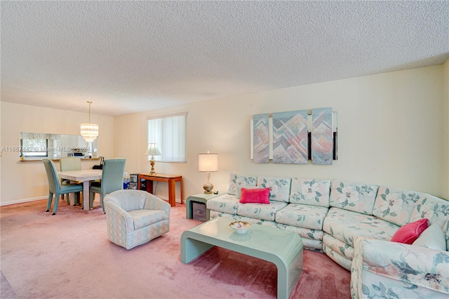
<path fill-rule="evenodd" d="M 333 180 L 330 189 L 330 206 L 372 215 L 378 189 L 377 185 Z"/>

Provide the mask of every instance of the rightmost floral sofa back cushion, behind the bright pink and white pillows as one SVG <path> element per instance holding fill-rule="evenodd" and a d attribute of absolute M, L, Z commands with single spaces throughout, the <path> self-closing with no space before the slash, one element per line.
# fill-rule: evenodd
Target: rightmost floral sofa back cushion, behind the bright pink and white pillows
<path fill-rule="evenodd" d="M 449 201 L 439 199 L 438 197 L 431 196 L 429 194 L 420 194 L 415 208 L 413 208 L 412 215 L 410 216 L 410 222 L 420 220 L 422 218 L 429 219 L 429 225 L 437 224 L 445 234 L 447 229 L 445 225 L 449 220 Z"/>

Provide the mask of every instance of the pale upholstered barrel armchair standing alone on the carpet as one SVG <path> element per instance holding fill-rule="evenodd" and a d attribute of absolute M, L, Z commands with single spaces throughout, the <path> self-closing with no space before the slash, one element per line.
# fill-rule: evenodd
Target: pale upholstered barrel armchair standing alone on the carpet
<path fill-rule="evenodd" d="M 142 190 L 119 190 L 105 197 L 107 237 L 126 249 L 170 231 L 170 204 Z"/>

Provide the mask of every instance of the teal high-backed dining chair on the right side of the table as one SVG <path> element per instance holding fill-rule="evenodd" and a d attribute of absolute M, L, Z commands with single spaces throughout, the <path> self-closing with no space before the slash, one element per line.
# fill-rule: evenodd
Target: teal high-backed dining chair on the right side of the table
<path fill-rule="evenodd" d="M 123 171 L 125 171 L 126 159 L 109 159 L 103 163 L 103 171 L 100 186 L 91 185 L 89 192 L 89 208 L 93 208 L 95 193 L 100 194 L 100 206 L 105 212 L 103 199 L 106 194 L 117 190 L 123 190 Z"/>

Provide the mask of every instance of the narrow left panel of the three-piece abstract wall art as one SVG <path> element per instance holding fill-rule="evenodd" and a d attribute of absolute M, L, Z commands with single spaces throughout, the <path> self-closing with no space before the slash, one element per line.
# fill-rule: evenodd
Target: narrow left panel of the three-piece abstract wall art
<path fill-rule="evenodd" d="M 269 114 L 253 116 L 253 157 L 254 163 L 269 163 Z"/>

